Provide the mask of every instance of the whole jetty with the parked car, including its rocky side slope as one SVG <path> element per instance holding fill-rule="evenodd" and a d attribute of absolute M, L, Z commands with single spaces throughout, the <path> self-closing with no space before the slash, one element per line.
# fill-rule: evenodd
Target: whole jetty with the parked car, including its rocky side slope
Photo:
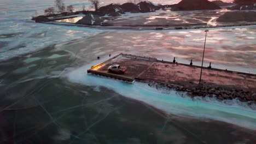
<path fill-rule="evenodd" d="M 126 67 L 123 74 L 109 73 L 110 65 Z M 87 70 L 88 74 L 107 76 L 133 83 L 148 83 L 150 87 L 164 86 L 187 92 L 190 97 L 216 97 L 219 100 L 238 99 L 256 104 L 256 75 L 212 67 L 164 61 L 154 57 L 120 53 Z M 156 85 L 155 85 L 156 84 Z"/>

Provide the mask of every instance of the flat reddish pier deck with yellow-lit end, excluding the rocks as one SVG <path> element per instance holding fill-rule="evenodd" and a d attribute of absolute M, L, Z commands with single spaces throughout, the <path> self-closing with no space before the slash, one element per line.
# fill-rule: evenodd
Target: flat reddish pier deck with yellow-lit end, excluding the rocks
<path fill-rule="evenodd" d="M 124 74 L 108 72 L 110 65 L 126 67 Z M 201 67 L 197 65 L 162 61 L 153 57 L 143 57 L 120 53 L 106 62 L 91 67 L 88 73 L 113 77 L 132 82 L 158 82 L 182 87 L 198 86 Z M 256 75 L 237 71 L 203 67 L 202 83 L 241 88 L 255 91 Z"/>

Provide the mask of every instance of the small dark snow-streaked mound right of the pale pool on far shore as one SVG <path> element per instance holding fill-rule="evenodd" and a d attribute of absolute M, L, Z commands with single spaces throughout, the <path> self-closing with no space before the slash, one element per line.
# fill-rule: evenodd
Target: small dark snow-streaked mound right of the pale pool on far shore
<path fill-rule="evenodd" d="M 103 25 L 104 20 L 102 17 L 98 15 L 88 14 L 83 17 L 83 19 L 79 20 L 78 24 L 83 25 Z"/>

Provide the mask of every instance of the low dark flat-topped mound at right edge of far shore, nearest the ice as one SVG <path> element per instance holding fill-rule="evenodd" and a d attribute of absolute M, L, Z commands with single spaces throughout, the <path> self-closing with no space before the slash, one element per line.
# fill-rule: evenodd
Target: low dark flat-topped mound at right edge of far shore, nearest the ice
<path fill-rule="evenodd" d="M 228 11 L 217 19 L 218 22 L 256 21 L 256 11 Z"/>

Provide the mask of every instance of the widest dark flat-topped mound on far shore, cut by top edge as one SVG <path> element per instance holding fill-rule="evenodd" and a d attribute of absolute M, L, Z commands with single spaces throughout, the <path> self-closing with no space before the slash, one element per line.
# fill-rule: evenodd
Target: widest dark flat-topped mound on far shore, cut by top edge
<path fill-rule="evenodd" d="M 171 10 L 214 10 L 220 9 L 220 7 L 207 0 L 182 0 L 178 4 L 172 5 Z"/>

